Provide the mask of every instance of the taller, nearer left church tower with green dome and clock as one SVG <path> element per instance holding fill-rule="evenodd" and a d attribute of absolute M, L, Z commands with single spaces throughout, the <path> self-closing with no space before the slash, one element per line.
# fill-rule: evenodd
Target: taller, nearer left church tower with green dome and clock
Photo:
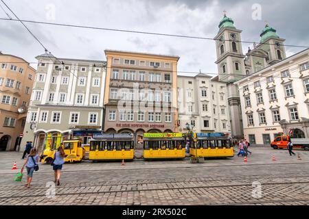
<path fill-rule="evenodd" d="M 240 94 L 238 86 L 233 82 L 246 76 L 242 43 L 240 34 L 242 31 L 236 29 L 231 18 L 226 12 L 219 24 L 216 40 L 216 52 L 219 81 L 227 83 L 227 98 L 229 101 L 229 113 L 231 116 L 231 134 L 233 138 L 242 138 L 242 116 L 240 107 Z"/>

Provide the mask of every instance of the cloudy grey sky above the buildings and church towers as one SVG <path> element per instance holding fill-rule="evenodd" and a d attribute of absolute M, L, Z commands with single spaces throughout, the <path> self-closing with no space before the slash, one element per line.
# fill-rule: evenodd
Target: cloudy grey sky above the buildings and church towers
<path fill-rule="evenodd" d="M 214 38 L 227 10 L 242 40 L 259 42 L 265 21 L 286 44 L 309 45 L 308 0 L 4 0 L 23 20 Z M 3 3 L 0 4 L 3 8 Z M 257 6 L 258 4 L 258 6 Z M 260 7 L 259 7 L 260 5 Z M 261 9 L 261 11 L 259 10 Z M 8 12 L 8 10 L 5 8 Z M 10 14 L 10 13 L 9 13 Z M 12 14 L 10 14 L 14 18 Z M 7 18 L 0 8 L 0 18 Z M 214 40 L 128 34 L 27 23 L 57 57 L 105 60 L 104 49 L 179 55 L 179 71 L 216 74 Z M 252 44 L 242 44 L 247 52 Z M 287 47 L 293 55 L 302 49 Z M 0 51 L 36 62 L 43 48 L 21 23 L 0 21 Z M 36 65 L 34 64 L 34 67 Z"/>

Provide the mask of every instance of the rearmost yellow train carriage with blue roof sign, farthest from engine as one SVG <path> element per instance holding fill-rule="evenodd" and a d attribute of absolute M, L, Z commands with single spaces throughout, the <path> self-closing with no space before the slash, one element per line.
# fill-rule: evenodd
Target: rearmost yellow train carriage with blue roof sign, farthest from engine
<path fill-rule="evenodd" d="M 234 157 L 233 140 L 224 133 L 193 133 L 190 155 L 195 157 Z"/>

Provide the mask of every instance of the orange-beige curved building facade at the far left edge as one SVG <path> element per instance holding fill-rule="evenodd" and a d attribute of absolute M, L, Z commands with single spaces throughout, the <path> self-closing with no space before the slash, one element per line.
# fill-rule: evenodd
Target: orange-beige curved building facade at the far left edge
<path fill-rule="evenodd" d="M 21 142 L 35 71 L 21 57 L 0 53 L 0 151 Z"/>

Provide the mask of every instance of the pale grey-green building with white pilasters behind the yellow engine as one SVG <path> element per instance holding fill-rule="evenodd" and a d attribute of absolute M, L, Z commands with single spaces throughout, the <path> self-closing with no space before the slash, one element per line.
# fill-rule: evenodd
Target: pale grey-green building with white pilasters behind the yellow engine
<path fill-rule="evenodd" d="M 106 62 L 47 53 L 36 59 L 39 64 L 21 145 L 31 140 L 41 150 L 47 135 L 52 136 L 52 145 L 72 136 L 87 144 L 104 125 Z"/>

